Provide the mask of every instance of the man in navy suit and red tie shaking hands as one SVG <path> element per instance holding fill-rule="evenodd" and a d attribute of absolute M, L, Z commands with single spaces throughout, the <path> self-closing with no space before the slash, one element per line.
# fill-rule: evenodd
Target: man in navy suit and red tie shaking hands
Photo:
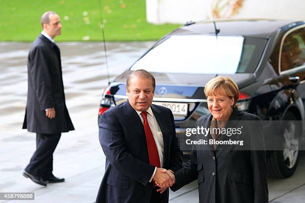
<path fill-rule="evenodd" d="M 153 105 L 155 80 L 145 70 L 127 80 L 128 101 L 105 111 L 99 139 L 106 156 L 96 203 L 167 203 L 153 181 L 168 187 L 173 180 L 161 168 L 178 170 L 182 152 L 170 109 Z M 164 176 L 166 175 L 166 176 Z"/>

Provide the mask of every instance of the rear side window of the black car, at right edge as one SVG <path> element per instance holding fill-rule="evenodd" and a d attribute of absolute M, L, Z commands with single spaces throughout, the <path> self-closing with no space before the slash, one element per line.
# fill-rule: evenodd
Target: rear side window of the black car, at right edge
<path fill-rule="evenodd" d="M 293 31 L 284 40 L 281 52 L 281 72 L 305 63 L 305 30 Z"/>

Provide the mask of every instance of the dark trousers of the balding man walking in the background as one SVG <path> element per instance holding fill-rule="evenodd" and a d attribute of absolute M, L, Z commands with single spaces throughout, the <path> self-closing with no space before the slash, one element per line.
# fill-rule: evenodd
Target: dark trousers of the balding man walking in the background
<path fill-rule="evenodd" d="M 34 176 L 52 176 L 53 152 L 58 144 L 61 133 L 41 134 L 36 133 L 36 151 L 25 171 Z"/>

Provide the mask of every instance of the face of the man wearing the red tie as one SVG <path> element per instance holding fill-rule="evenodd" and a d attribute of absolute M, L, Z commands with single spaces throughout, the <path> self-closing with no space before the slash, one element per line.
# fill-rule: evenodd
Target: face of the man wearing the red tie
<path fill-rule="evenodd" d="M 126 95 L 130 105 L 138 111 L 146 111 L 152 105 L 154 96 L 152 80 L 142 77 L 132 77 Z"/>

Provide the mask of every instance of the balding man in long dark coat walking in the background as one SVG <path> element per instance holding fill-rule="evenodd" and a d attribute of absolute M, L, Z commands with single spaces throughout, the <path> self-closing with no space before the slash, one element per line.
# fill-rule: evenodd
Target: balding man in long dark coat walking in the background
<path fill-rule="evenodd" d="M 28 92 L 23 129 L 36 133 L 36 151 L 23 176 L 46 186 L 63 182 L 53 175 L 53 152 L 62 132 L 74 130 L 64 95 L 60 51 L 54 37 L 61 33 L 59 16 L 52 11 L 41 17 L 43 31 L 30 47 Z"/>

